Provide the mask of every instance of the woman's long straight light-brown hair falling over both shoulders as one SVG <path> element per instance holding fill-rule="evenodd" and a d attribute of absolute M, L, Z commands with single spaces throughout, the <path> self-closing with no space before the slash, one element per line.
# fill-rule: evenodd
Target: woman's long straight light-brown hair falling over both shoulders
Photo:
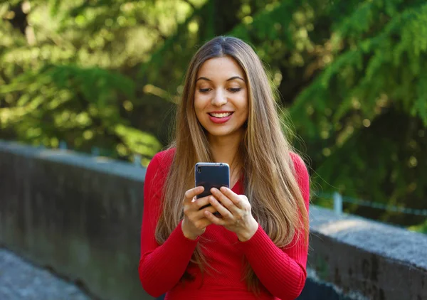
<path fill-rule="evenodd" d="M 186 73 L 171 145 L 176 152 L 164 188 L 156 240 L 164 243 L 184 218 L 182 199 L 185 191 L 194 187 L 194 164 L 213 161 L 209 141 L 194 111 L 196 75 L 206 60 L 226 55 L 241 66 L 248 85 L 248 121 L 238 155 L 243 162 L 245 195 L 251 202 L 253 216 L 278 247 L 289 245 L 300 230 L 308 242 L 307 209 L 295 178 L 290 157 L 292 147 L 282 131 L 263 63 L 250 45 L 223 36 L 205 43 L 192 58 Z M 199 242 L 191 262 L 198 264 L 203 274 L 207 262 L 201 247 L 203 242 Z M 191 277 L 186 273 L 183 279 Z M 249 264 L 245 279 L 249 290 L 258 291 L 258 278 Z"/>

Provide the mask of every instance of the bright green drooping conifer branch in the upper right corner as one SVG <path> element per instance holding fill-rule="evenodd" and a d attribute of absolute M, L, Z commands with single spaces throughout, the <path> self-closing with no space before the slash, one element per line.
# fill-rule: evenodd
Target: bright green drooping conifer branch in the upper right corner
<path fill-rule="evenodd" d="M 349 20 L 370 26 L 371 23 L 362 22 L 357 16 L 361 11 L 365 15 L 368 14 L 366 8 L 374 6 L 374 2 L 361 6 L 362 9 L 355 11 L 355 16 Z M 422 88 L 419 93 L 413 88 L 414 82 L 419 82 L 418 90 L 427 83 L 426 78 L 421 77 L 419 72 L 426 64 L 427 43 L 422 35 L 414 34 L 414 30 L 417 32 L 427 30 L 426 8 L 424 4 L 402 11 L 400 16 L 396 16 L 386 23 L 384 28 L 380 28 L 376 36 L 371 33 L 371 37 L 362 38 L 357 47 L 339 55 L 314 84 L 302 92 L 292 107 L 292 112 L 303 115 L 301 109 L 308 103 L 315 107 L 317 112 L 322 112 L 325 102 L 334 105 L 334 102 L 339 101 L 338 109 L 333 115 L 334 122 L 339 122 L 349 112 L 354 112 L 352 102 L 357 98 L 362 102 L 359 112 L 372 119 L 381 112 L 376 109 L 376 99 L 386 93 L 395 102 L 401 102 L 401 107 L 407 112 L 418 112 L 418 116 L 427 124 L 427 119 L 423 116 L 426 114 L 425 107 L 421 105 L 421 109 L 415 108 L 425 103 L 425 94 Z M 347 31 L 352 27 L 349 23 L 344 23 L 342 28 L 342 32 L 348 35 Z M 359 27 L 352 29 L 357 32 L 359 30 L 357 28 Z M 359 31 L 358 34 L 360 37 L 362 32 Z M 404 62 L 408 62 L 409 65 Z M 321 97 L 323 101 L 313 102 L 315 95 L 319 95 L 322 91 L 327 97 Z M 332 91 L 334 95 L 330 93 Z M 310 122 L 310 119 L 307 119 L 307 122 Z"/>

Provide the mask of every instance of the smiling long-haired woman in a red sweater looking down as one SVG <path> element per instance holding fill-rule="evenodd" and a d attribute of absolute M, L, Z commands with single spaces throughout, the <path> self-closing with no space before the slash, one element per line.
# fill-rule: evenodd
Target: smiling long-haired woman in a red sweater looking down
<path fill-rule="evenodd" d="M 229 164 L 232 188 L 196 200 L 199 161 Z M 214 38 L 189 65 L 174 144 L 147 168 L 142 286 L 169 300 L 295 299 L 308 205 L 307 168 L 281 131 L 260 59 L 238 38 Z"/>

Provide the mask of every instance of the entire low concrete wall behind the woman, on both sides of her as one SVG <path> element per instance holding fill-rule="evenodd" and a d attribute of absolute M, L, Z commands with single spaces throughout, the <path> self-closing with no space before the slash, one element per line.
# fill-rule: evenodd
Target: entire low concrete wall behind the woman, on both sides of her
<path fill-rule="evenodd" d="M 137 272 L 144 175 L 0 141 L 0 243 L 100 299 L 152 299 Z M 300 300 L 427 299 L 426 235 L 314 205 L 310 230 Z"/>

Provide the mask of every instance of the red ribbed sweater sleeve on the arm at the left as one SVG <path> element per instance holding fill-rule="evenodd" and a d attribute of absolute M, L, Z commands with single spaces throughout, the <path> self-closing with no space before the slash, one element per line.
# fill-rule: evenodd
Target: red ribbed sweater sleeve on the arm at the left
<path fill-rule="evenodd" d="M 138 268 L 142 287 L 154 297 L 166 293 L 179 282 L 197 244 L 197 240 L 189 240 L 184 236 L 181 223 L 163 245 L 159 245 L 154 237 L 161 210 L 160 197 L 167 176 L 162 161 L 163 153 L 160 152 L 150 162 L 145 175 Z"/>

